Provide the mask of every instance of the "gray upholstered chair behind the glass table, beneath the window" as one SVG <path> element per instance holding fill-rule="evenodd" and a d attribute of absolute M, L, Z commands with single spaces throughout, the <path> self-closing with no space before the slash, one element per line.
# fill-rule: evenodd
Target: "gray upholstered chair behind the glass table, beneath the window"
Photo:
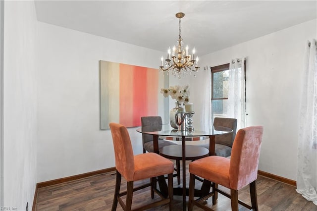
<path fill-rule="evenodd" d="M 237 132 L 237 119 L 215 117 L 213 120 L 214 126 L 228 127 L 233 130 L 232 133 L 220 135 L 215 137 L 215 154 L 220 157 L 229 157 L 231 155 L 232 145 Z M 200 145 L 209 149 L 209 143 Z"/>

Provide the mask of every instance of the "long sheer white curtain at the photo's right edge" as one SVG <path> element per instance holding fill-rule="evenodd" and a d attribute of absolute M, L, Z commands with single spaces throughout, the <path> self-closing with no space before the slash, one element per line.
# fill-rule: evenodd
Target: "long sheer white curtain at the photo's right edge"
<path fill-rule="evenodd" d="M 317 205 L 317 53 L 316 40 L 306 44 L 304 86 L 300 108 L 297 189 Z"/>

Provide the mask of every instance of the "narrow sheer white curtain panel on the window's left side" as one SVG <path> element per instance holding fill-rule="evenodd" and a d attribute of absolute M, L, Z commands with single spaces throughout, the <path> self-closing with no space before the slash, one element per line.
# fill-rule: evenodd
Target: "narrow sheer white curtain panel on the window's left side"
<path fill-rule="evenodd" d="M 203 101 L 202 105 L 202 115 L 201 116 L 201 125 L 204 131 L 209 131 L 211 129 L 212 123 L 211 123 L 211 69 L 206 66 L 204 71 L 201 71 L 200 74 L 204 74 L 203 81 L 201 81 L 204 85 L 203 90 L 205 90 L 203 93 Z"/>

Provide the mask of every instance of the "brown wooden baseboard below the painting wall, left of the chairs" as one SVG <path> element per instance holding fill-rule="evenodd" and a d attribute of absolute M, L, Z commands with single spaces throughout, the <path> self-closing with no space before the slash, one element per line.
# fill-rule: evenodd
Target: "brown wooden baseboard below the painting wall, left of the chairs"
<path fill-rule="evenodd" d="M 63 183 L 63 182 L 69 182 L 69 181 L 73 181 L 76 179 L 82 179 L 82 178 L 94 176 L 97 174 L 108 173 L 111 171 L 115 171 L 115 167 L 105 168 L 105 169 L 101 169 L 101 170 L 97 170 L 97 171 L 91 171 L 88 173 L 83 173 L 83 174 L 78 174 L 78 175 L 74 175 L 74 176 L 68 176 L 68 177 L 64 177 L 64 178 L 60 178 L 60 179 L 54 179 L 54 180 L 50 180 L 50 181 L 46 181 L 46 182 L 37 183 L 36 187 L 35 187 L 32 211 L 35 211 L 36 200 L 38 197 L 38 189 L 39 188 L 43 188 L 43 187 L 47 187 L 47 186 L 51 186 L 51 185 L 55 185 L 55 184 L 59 184 L 59 183 Z"/>

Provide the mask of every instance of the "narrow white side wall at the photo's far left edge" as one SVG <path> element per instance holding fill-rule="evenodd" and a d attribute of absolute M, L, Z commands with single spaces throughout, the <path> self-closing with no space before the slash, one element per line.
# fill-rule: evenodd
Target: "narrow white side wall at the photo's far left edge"
<path fill-rule="evenodd" d="M 32 209 L 36 186 L 37 76 L 33 1 L 4 2 L 4 202 Z"/>

